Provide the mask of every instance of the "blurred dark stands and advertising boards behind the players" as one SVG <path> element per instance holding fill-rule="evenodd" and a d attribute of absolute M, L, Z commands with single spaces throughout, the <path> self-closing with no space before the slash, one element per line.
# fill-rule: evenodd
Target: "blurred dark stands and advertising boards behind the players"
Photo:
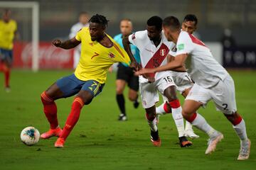
<path fill-rule="evenodd" d="M 198 17 L 198 30 L 196 31 L 204 42 L 214 42 L 209 45 L 214 51 L 217 46 L 218 58 L 225 67 L 256 67 L 255 36 L 256 29 L 256 1 L 254 0 L 142 0 L 142 1 L 118 1 L 118 0 L 63 0 L 50 1 L 39 0 L 40 5 L 40 62 L 41 68 L 70 68 L 73 52 L 54 50 L 49 43 L 54 38 L 67 39 L 70 28 L 78 22 L 80 11 L 87 11 L 90 15 L 101 13 L 110 20 L 107 33 L 114 36 L 119 33 L 119 21 L 122 18 L 131 18 L 134 24 L 134 31 L 146 28 L 146 19 L 153 15 L 164 16 L 174 15 L 180 21 L 187 13 L 194 13 Z M 30 47 L 25 47 L 24 42 L 31 40 L 31 10 L 15 8 L 13 17 L 18 22 L 18 32 L 21 34 L 20 42 L 16 45 L 15 67 L 30 67 L 27 57 Z M 229 49 L 223 48 L 226 40 L 225 30 L 230 30 L 230 37 L 233 45 Z M 228 40 L 230 40 L 230 37 Z M 207 43 L 206 43 L 207 44 Z M 51 50 L 55 55 L 44 55 Z M 23 51 L 25 50 L 25 51 Z M 23 54 L 25 53 L 25 54 Z M 21 55 L 21 57 L 20 57 Z M 25 55 L 22 56 L 22 55 Z M 43 55 L 43 56 L 42 56 Z M 71 56 L 70 56 L 71 55 Z M 50 56 L 50 57 L 49 57 Z M 62 56 L 62 57 L 60 57 Z M 23 63 L 20 61 L 23 60 Z M 48 61 L 47 58 L 55 60 Z M 60 59 L 61 58 L 61 59 Z M 55 67 L 54 62 L 61 60 L 61 64 Z"/>

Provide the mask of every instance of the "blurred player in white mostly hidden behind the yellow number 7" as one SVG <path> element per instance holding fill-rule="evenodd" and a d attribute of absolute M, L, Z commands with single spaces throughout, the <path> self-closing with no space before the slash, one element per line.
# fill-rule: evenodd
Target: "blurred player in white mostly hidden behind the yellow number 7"
<path fill-rule="evenodd" d="M 70 29 L 70 35 L 69 38 L 74 38 L 75 35 L 77 35 L 78 31 L 83 28 L 83 27 L 88 27 L 89 26 L 89 14 L 87 12 L 81 12 L 79 14 L 79 22 L 75 23 Z M 78 47 L 75 47 L 74 50 L 74 57 L 73 57 L 73 68 L 75 69 L 78 66 L 78 62 L 80 60 L 80 55 L 81 55 L 81 44 L 78 45 Z"/>

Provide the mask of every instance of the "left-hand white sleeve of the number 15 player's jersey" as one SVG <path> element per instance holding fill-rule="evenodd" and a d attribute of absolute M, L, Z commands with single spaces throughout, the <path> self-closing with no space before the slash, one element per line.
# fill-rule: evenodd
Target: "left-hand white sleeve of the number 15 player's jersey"
<path fill-rule="evenodd" d="M 129 35 L 129 42 L 137 46 L 138 48 L 141 48 L 142 45 L 145 43 L 144 40 L 146 39 L 147 36 L 147 33 L 145 31 L 146 30 L 142 30 L 133 33 L 132 35 Z"/>

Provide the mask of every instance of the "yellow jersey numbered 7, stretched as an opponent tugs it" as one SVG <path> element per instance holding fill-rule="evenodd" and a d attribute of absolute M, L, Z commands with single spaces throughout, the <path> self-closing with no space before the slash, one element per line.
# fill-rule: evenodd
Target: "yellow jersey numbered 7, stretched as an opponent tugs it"
<path fill-rule="evenodd" d="M 80 60 L 75 69 L 75 77 L 82 81 L 95 80 L 104 84 L 107 79 L 107 71 L 115 62 L 130 64 L 127 52 L 115 42 L 112 47 L 105 47 L 100 42 L 92 41 L 88 27 L 82 28 L 75 39 L 82 44 Z"/>

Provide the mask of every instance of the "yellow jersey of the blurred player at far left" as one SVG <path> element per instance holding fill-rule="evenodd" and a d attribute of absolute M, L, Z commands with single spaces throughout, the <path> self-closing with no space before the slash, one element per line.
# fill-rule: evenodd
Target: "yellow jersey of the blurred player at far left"
<path fill-rule="evenodd" d="M 0 20 L 0 48 L 5 50 L 13 49 L 16 30 L 16 21 L 10 20 L 8 23 L 5 23 L 3 20 Z"/>

